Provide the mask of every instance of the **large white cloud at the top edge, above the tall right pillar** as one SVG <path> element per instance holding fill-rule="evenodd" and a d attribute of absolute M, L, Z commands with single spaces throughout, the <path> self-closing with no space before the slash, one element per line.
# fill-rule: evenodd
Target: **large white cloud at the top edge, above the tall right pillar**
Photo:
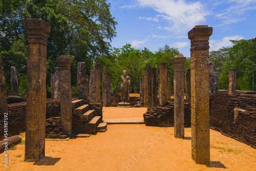
<path fill-rule="evenodd" d="M 160 14 L 157 18 L 167 20 L 170 26 L 164 29 L 169 31 L 187 31 L 205 21 L 206 12 L 200 2 L 187 3 L 184 0 L 137 0 L 140 7 L 150 7 Z"/>

